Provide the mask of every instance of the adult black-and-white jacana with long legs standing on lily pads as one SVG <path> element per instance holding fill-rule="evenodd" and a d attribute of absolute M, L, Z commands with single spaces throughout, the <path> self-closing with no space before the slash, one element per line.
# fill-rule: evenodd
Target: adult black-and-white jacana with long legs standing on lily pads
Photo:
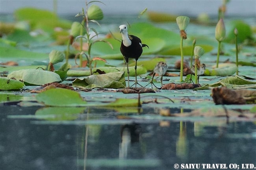
<path fill-rule="evenodd" d="M 124 59 L 127 64 L 127 75 L 128 75 L 128 88 L 130 87 L 129 84 L 129 76 L 130 71 L 128 67 L 129 58 L 135 58 L 135 87 L 137 87 L 137 60 L 141 56 L 142 48 L 147 46 L 147 44 L 142 44 L 141 39 L 134 35 L 128 35 L 128 28 L 126 25 L 119 26 L 120 33 L 122 34 L 122 42 L 120 46 L 120 51 L 124 56 Z M 148 46 L 147 46 L 148 47 Z"/>

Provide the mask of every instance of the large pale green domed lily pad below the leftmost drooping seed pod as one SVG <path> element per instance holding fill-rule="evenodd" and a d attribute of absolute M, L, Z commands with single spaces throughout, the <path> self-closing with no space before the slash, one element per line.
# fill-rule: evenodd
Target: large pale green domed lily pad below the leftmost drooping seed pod
<path fill-rule="evenodd" d="M 61 78 L 57 73 L 40 69 L 13 71 L 7 77 L 22 80 L 25 85 L 43 85 L 50 82 L 61 82 Z"/>

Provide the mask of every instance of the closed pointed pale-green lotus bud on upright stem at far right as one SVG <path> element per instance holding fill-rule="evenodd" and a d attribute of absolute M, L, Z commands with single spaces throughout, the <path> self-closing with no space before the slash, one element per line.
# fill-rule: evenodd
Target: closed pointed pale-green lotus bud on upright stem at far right
<path fill-rule="evenodd" d="M 225 24 L 224 24 L 223 19 L 221 18 L 219 20 L 219 22 L 217 23 L 216 28 L 215 28 L 215 38 L 219 42 L 218 52 L 217 52 L 216 68 L 219 67 L 219 55 L 220 55 L 220 51 L 221 51 L 221 42 L 224 40 L 225 35 L 226 35 Z"/>

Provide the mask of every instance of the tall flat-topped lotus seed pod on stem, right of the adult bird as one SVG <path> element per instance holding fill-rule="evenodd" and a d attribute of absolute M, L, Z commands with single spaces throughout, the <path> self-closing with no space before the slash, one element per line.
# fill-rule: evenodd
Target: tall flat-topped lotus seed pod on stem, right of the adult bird
<path fill-rule="evenodd" d="M 185 29 L 187 28 L 189 24 L 189 17 L 187 16 L 178 16 L 176 18 L 176 22 L 178 24 L 178 27 L 180 29 L 180 82 L 182 82 L 183 79 L 183 40 L 187 39 L 187 33 L 185 32 Z"/>

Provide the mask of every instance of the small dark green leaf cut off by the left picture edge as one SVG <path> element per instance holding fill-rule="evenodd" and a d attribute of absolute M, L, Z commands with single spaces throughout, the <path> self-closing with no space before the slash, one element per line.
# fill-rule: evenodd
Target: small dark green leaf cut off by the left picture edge
<path fill-rule="evenodd" d="M 23 88 L 24 83 L 18 80 L 0 77 L 0 90 L 19 90 Z"/>

